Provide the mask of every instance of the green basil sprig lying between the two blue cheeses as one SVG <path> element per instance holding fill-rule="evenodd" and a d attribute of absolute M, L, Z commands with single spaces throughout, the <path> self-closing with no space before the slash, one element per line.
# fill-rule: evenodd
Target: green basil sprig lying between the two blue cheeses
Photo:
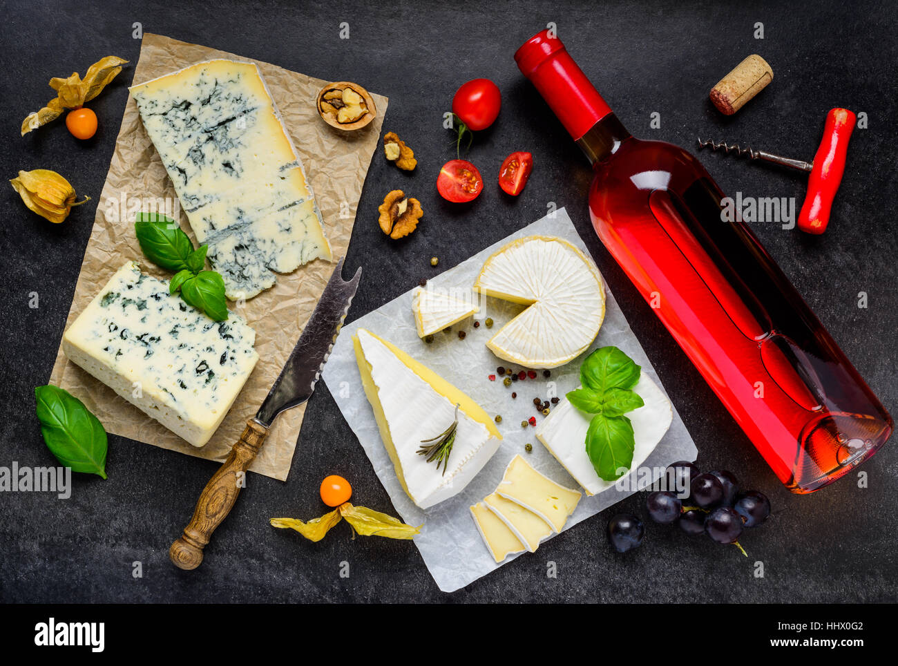
<path fill-rule="evenodd" d="M 227 319 L 225 280 L 214 270 L 203 270 L 207 245 L 194 250 L 190 237 L 174 220 L 157 213 L 138 213 L 134 232 L 146 259 L 175 272 L 169 284 L 171 294 L 180 291 L 184 302 L 206 312 L 211 319 Z"/>

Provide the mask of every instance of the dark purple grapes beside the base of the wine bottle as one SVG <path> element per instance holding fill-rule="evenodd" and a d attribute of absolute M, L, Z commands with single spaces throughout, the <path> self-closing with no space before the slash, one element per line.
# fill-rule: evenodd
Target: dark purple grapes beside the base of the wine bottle
<path fill-rule="evenodd" d="M 743 530 L 757 527 L 770 515 L 767 496 L 757 490 L 740 493 L 732 472 L 702 474 L 691 462 L 680 460 L 667 468 L 666 478 L 678 488 L 688 487 L 689 495 L 682 498 L 669 490 L 649 494 L 649 517 L 663 525 L 676 522 L 687 534 L 704 532 L 720 544 L 735 545 L 743 555 L 739 544 Z M 608 540 L 619 553 L 637 548 L 644 535 L 645 526 L 631 513 L 618 513 L 608 521 Z"/>

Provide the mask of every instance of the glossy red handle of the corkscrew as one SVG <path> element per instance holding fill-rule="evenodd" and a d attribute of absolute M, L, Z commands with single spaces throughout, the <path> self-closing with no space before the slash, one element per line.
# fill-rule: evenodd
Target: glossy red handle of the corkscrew
<path fill-rule="evenodd" d="M 805 204 L 798 215 L 798 228 L 803 232 L 819 234 L 826 231 L 832 199 L 845 172 L 845 155 L 857 118 L 848 109 L 831 109 L 826 114 L 823 140 L 814 155 L 814 169 L 807 179 Z"/>

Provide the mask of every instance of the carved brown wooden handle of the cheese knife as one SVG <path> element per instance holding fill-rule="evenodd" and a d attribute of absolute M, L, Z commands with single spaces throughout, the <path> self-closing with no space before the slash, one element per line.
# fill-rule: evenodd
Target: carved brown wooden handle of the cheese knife
<path fill-rule="evenodd" d="M 190 570 L 202 563 L 203 548 L 206 548 L 212 532 L 225 520 L 237 501 L 237 495 L 240 495 L 242 483 L 238 483 L 238 474 L 242 478 L 242 473 L 250 467 L 268 433 L 268 428 L 258 421 L 250 419 L 246 422 L 240 441 L 233 445 L 227 460 L 203 488 L 193 518 L 180 539 L 176 539 L 169 549 L 175 566 Z"/>

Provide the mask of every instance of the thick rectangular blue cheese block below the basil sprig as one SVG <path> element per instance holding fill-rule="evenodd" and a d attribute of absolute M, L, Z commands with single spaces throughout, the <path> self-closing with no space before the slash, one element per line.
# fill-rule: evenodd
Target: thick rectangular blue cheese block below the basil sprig
<path fill-rule="evenodd" d="M 194 446 L 216 432 L 259 360 L 233 312 L 209 319 L 129 261 L 66 330 L 73 363 Z"/>

